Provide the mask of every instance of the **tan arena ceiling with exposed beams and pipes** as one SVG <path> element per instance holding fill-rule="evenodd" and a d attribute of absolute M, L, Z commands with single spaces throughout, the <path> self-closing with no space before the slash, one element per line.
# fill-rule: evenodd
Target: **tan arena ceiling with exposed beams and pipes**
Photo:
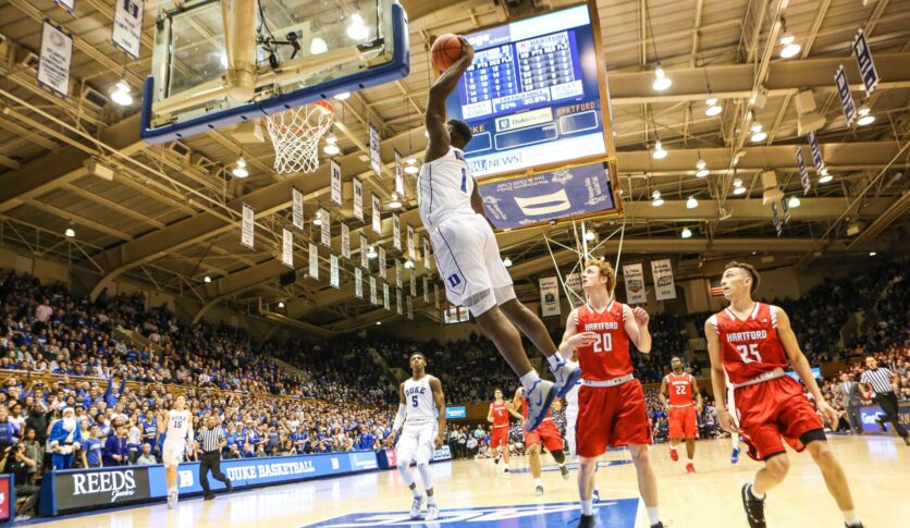
<path fill-rule="evenodd" d="M 180 294 L 196 305 L 186 309 L 194 317 L 226 304 L 322 333 L 393 317 L 354 297 L 349 263 L 343 266 L 341 290 L 304 277 L 279 284 L 286 271 L 276 256 L 281 228 L 288 223 L 290 188 L 306 193 L 309 211 L 328 202 L 325 165 L 313 174 L 275 174 L 269 142 L 250 148 L 226 132 L 148 145 L 138 136 L 138 105 L 123 108 L 109 100 L 121 78 L 134 94 L 142 90 L 150 69 L 155 3 L 145 2 L 142 59 L 127 63 L 110 40 L 110 1 L 76 0 L 71 15 L 51 0 L 0 0 L 0 243 L 69 263 L 93 294 L 118 278 Z M 333 101 L 344 180 L 361 176 L 366 192 L 385 199 L 391 196 L 393 149 L 419 159 L 426 146 L 427 49 L 434 36 L 507 17 L 493 0 L 402 3 L 410 19 L 410 75 Z M 537 3 L 548 10 L 576 2 Z M 906 250 L 910 0 L 600 0 L 598 8 L 626 210 L 625 255 L 672 256 L 678 272 L 691 275 L 700 273 L 705 260 L 753 251 L 773 255 L 776 265 L 806 266 L 820 258 Z M 776 21 L 782 14 L 802 46 L 789 60 L 779 58 Z M 74 33 L 73 89 L 65 100 L 36 82 L 45 17 Z M 851 130 L 845 126 L 833 75 L 840 63 L 854 67 L 850 41 L 860 27 L 882 82 L 868 101 L 875 122 Z M 651 88 L 657 58 L 673 78 L 663 93 Z M 704 112 L 709 82 L 724 107 L 717 116 Z M 835 180 L 802 197 L 794 145 L 804 139 L 798 136 L 795 99 L 806 89 L 825 118 L 819 137 Z M 765 100 L 753 112 L 767 138 L 752 143 L 746 114 L 759 93 L 765 96 L 759 100 Z M 381 151 L 389 170 L 382 177 L 372 175 L 367 162 L 368 123 L 378 124 L 384 138 Z M 669 152 L 663 160 L 651 157 L 655 128 Z M 239 181 L 230 168 L 242 150 L 250 177 Z M 706 179 L 694 176 L 699 158 L 711 170 Z M 103 168 L 112 171 L 107 179 Z M 768 169 L 777 172 L 788 195 L 799 193 L 802 200 L 780 238 L 761 202 L 760 174 Z M 734 177 L 743 181 L 746 194 L 731 194 Z M 413 177 L 407 181 L 402 219 L 422 235 L 414 184 Z M 662 207 L 651 205 L 655 189 L 666 200 Z M 687 209 L 690 196 L 699 200 L 698 208 Z M 255 251 L 239 245 L 242 202 L 256 209 Z M 606 218 L 593 228 L 606 237 L 622 222 Z M 388 233 L 391 211 L 383 211 L 383 224 Z M 851 225 L 859 225 L 859 234 L 848 234 Z M 351 226 L 358 260 L 361 226 Z M 75 237 L 64 236 L 67 228 Z M 691 238 L 680 238 L 684 228 L 693 232 Z M 565 249 L 551 256 L 544 233 L 575 244 L 571 225 L 499 235 L 524 292 L 530 292 L 529 279 L 552 271 L 553 259 L 573 260 Z M 337 248 L 340 234 L 333 235 Z M 371 235 L 370 241 L 391 246 L 389 237 Z M 602 248 L 615 255 L 617 241 Z M 305 250 L 298 250 L 303 262 Z M 328 262 L 321 265 L 328 275 Z M 422 273 L 422 266 L 417 271 Z M 211 282 L 205 282 L 207 275 Z M 279 300 L 284 309 L 274 308 Z M 415 308 L 439 317 L 425 309 L 420 296 Z"/>

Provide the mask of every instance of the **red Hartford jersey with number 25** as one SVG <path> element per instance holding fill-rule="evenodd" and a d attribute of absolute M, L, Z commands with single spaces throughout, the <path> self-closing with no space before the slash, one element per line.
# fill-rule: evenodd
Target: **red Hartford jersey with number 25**
<path fill-rule="evenodd" d="M 745 383 L 776 368 L 787 368 L 789 359 L 777 337 L 777 314 L 764 303 L 755 303 L 743 321 L 724 308 L 708 321 L 721 341 L 721 359 L 730 383 Z"/>

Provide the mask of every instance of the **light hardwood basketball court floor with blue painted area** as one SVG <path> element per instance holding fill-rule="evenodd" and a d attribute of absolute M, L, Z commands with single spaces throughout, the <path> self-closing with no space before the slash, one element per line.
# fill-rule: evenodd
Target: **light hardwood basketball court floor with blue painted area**
<path fill-rule="evenodd" d="M 833 437 L 831 444 L 845 466 L 857 511 L 869 528 L 908 526 L 910 519 L 910 447 L 894 437 Z M 667 445 L 652 449 L 657 474 L 663 519 L 673 528 L 746 527 L 739 499 L 739 488 L 750 479 L 759 464 L 742 456 L 736 466 L 729 463 L 727 440 L 701 441 L 697 444 L 697 475 L 687 475 L 685 455 L 672 462 Z M 626 452 L 610 453 L 614 461 L 598 472 L 598 488 L 602 501 L 631 499 L 610 503 L 599 509 L 599 526 L 635 527 L 638 491 L 635 468 L 624 464 Z M 827 494 L 824 481 L 808 453 L 790 454 L 791 467 L 787 481 L 773 490 L 767 499 L 767 520 L 772 528 L 843 527 L 840 513 Z M 544 464 L 551 459 L 545 458 Z M 527 467 L 526 458 L 512 461 L 515 469 Z M 564 481 L 557 471 L 544 471 L 546 492 L 533 495 L 528 472 L 511 476 L 496 475 L 493 463 L 458 461 L 434 464 L 436 496 L 448 520 L 423 525 L 401 523 L 397 517 L 378 515 L 406 512 L 410 496 L 396 471 L 381 471 L 238 491 L 219 495 L 211 502 L 201 498 L 185 499 L 169 511 L 163 503 L 109 513 L 83 515 L 52 521 L 60 528 L 70 527 L 303 527 L 320 526 L 433 526 L 446 527 L 550 527 L 575 526 L 578 511 L 575 504 L 576 472 Z M 419 478 L 418 478 L 419 482 Z M 543 508 L 534 505 L 554 504 Z M 529 505 L 530 507 L 514 507 Z M 625 509 L 620 511 L 620 506 Z M 610 509 L 612 508 L 612 509 Z M 548 516 L 546 512 L 557 512 Z M 559 513 L 561 512 L 561 513 Z M 607 515 L 613 512 L 612 516 Z M 347 519 L 345 514 L 358 514 Z M 478 515 L 487 521 L 480 521 Z M 370 514 L 373 514 L 372 516 Z M 457 514 L 454 515 L 453 514 Z M 639 512 L 639 527 L 647 526 Z M 445 515 L 443 515 L 443 519 Z M 458 520 L 458 519 L 462 520 Z M 322 525 L 320 521 L 334 519 Z M 472 520 L 465 520 L 472 519 Z"/>

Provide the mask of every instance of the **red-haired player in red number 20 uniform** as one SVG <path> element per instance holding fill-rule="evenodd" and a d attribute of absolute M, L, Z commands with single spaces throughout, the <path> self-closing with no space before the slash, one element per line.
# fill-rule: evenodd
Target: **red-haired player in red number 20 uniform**
<path fill-rule="evenodd" d="M 629 342 L 642 353 L 651 352 L 648 312 L 613 300 L 616 274 L 610 262 L 589 260 L 581 273 L 588 302 L 571 310 L 559 351 L 578 353 L 581 389 L 578 391 L 576 443 L 579 461 L 579 527 L 594 526 L 594 469 L 598 457 L 610 446 L 628 445 L 638 489 L 652 528 L 663 528 L 657 506 L 657 482 L 648 447 L 651 423 L 644 391 L 632 376 Z"/>

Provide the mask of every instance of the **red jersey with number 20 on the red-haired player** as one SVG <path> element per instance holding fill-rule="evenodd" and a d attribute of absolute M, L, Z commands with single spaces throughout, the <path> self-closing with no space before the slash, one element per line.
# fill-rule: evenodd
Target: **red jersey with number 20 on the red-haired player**
<path fill-rule="evenodd" d="M 632 373 L 629 358 L 629 336 L 626 319 L 632 317 L 631 308 L 611 300 L 603 311 L 583 304 L 575 311 L 575 330 L 594 332 L 600 339 L 589 346 L 578 348 L 581 377 L 586 380 L 604 381 Z"/>

